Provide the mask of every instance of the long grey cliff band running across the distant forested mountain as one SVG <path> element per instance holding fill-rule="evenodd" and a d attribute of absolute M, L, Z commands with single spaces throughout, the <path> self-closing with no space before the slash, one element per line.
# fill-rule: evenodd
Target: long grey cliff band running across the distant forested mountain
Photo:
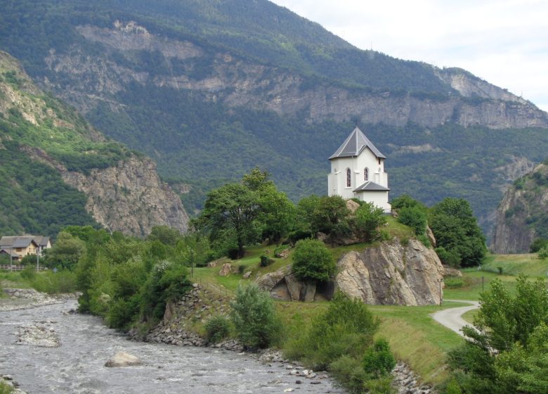
<path fill-rule="evenodd" d="M 413 122 L 435 127 L 445 122 L 456 122 L 463 126 L 479 125 L 492 129 L 548 127 L 548 115 L 532 103 L 464 70 L 433 68 L 441 80 L 462 96 L 421 98 L 389 91 L 351 91 L 332 84 L 306 87 L 304 77 L 299 74 L 242 61 L 223 51 L 211 56 L 198 44 L 157 37 L 135 23 L 124 25 L 117 21 L 110 29 L 85 25 L 77 30 L 90 43 L 102 44 L 105 47 L 103 56 L 82 56 L 78 46 L 64 53 L 51 51 L 45 59 L 46 64 L 53 76 L 58 77 L 46 79 L 43 83 L 83 111 L 98 103 L 109 103 L 120 109 L 112 95 L 123 90 L 126 84 L 138 83 L 190 89 L 205 101 L 274 110 L 281 115 L 305 111 L 314 121 L 357 117 L 363 123 L 396 126 Z M 190 77 L 193 70 L 189 66 L 188 70 L 171 68 L 165 75 L 150 75 L 112 58 L 115 53 L 118 57 L 121 54 L 130 59 L 135 51 L 161 53 L 168 62 L 188 59 L 206 62 L 210 72 L 203 77 Z"/>

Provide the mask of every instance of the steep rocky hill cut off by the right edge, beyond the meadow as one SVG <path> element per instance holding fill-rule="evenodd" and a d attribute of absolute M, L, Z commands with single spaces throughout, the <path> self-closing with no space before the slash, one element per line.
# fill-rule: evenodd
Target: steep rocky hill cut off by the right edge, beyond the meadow
<path fill-rule="evenodd" d="M 528 253 L 535 238 L 548 238 L 548 165 L 514 182 L 497 208 L 491 248 L 495 253 Z"/>

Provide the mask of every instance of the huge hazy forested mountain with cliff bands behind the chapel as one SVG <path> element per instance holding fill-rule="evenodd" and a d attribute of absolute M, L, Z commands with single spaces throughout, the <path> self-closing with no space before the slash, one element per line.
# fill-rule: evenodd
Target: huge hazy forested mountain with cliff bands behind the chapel
<path fill-rule="evenodd" d="M 258 165 L 325 193 L 356 122 L 392 196 L 468 198 L 484 227 L 544 158 L 548 115 L 469 72 L 362 51 L 266 0 L 1 0 L 0 48 L 105 134 L 145 151 L 200 208 Z M 184 188 L 178 190 L 186 191 Z"/>

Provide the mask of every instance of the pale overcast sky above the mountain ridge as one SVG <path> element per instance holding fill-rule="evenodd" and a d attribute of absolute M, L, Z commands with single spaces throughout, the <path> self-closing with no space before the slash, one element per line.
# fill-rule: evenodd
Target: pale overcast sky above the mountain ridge
<path fill-rule="evenodd" d="M 548 111 L 546 0 L 273 0 L 360 49 L 459 67 Z"/>

